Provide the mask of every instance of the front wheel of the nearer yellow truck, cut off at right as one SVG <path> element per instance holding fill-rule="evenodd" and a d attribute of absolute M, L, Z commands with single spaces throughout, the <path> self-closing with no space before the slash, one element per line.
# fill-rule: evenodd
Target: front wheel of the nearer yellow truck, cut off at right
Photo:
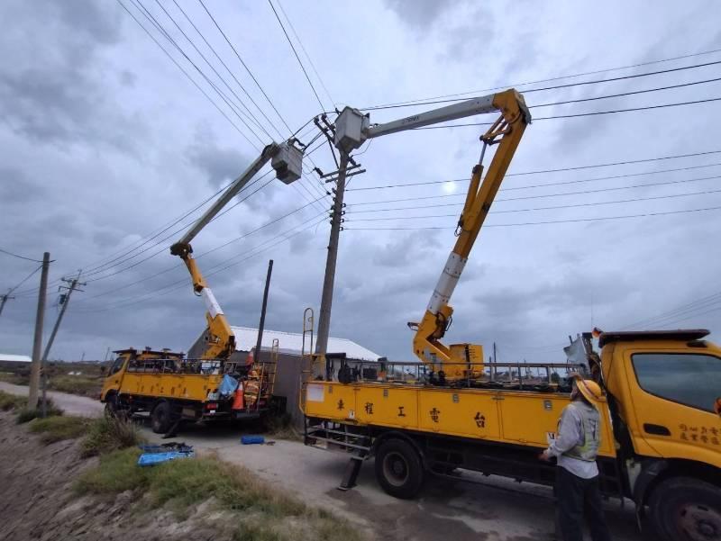
<path fill-rule="evenodd" d="M 690 477 L 673 477 L 649 500 L 650 518 L 662 541 L 721 539 L 721 489 Z"/>

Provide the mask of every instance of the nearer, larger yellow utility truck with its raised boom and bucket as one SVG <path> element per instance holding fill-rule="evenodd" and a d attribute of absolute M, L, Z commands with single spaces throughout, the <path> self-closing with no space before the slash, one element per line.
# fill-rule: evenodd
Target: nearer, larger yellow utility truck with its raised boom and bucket
<path fill-rule="evenodd" d="M 335 136 L 345 149 L 357 149 L 386 133 L 493 111 L 500 118 L 480 137 L 455 246 L 423 319 L 408 324 L 420 360 L 415 373 L 407 364 L 336 371 L 316 356 L 314 377 L 301 393 L 306 445 L 351 454 L 341 488 L 351 487 L 362 461 L 375 456 L 379 484 L 398 498 L 412 498 L 430 475 L 456 469 L 550 484 L 553 466 L 538 455 L 554 437 L 578 373 L 605 391 L 603 491 L 634 500 L 639 524 L 645 514 L 659 539 L 721 540 L 721 348 L 703 339 L 707 330 L 602 333 L 600 352 L 588 339 L 586 358 L 573 365 L 484 363 L 479 344 L 441 342 L 453 289 L 531 121 L 523 97 L 508 90 L 372 126 L 367 115 L 346 108 Z M 494 144 L 483 177 L 485 150 Z"/>

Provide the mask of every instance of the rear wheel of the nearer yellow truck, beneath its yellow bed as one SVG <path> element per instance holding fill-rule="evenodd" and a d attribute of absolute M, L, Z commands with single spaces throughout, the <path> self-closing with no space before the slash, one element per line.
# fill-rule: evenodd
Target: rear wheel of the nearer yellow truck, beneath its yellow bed
<path fill-rule="evenodd" d="M 376 478 L 383 490 L 404 500 L 413 498 L 424 482 L 424 467 L 414 446 L 392 438 L 376 452 Z"/>

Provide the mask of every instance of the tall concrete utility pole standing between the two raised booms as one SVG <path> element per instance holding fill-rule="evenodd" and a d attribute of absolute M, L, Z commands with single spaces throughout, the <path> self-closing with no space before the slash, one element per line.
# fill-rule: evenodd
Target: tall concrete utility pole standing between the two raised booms
<path fill-rule="evenodd" d="M 349 155 L 341 151 L 341 162 L 338 167 L 338 181 L 333 198 L 333 219 L 331 220 L 331 239 L 328 243 L 328 257 L 325 259 L 325 276 L 323 279 L 323 295 L 321 297 L 321 313 L 318 319 L 318 338 L 315 341 L 315 355 L 321 357 L 320 363 L 314 363 L 313 379 L 325 377 L 325 354 L 328 348 L 328 334 L 331 329 L 331 308 L 333 306 L 333 284 L 335 283 L 335 263 L 338 259 L 338 238 L 341 234 L 343 194 L 345 193 L 345 176 L 348 169 Z M 317 374 L 316 374 L 317 372 Z"/>

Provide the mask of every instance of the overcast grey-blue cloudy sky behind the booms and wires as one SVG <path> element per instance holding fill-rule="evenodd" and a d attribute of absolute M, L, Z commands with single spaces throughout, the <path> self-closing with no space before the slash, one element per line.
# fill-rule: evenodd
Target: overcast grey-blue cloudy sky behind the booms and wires
<path fill-rule="evenodd" d="M 477 2 L 273 0 L 317 98 L 268 2 L 205 0 L 237 55 L 198 0 L 177 2 L 0 5 L 8 22 L 0 34 L 0 248 L 32 259 L 50 251 L 46 337 L 59 279 L 83 269 L 87 282 L 51 357 L 187 350 L 205 309 L 169 244 L 258 149 L 321 105 L 367 108 L 507 86 L 565 87 L 526 95 L 538 120 L 456 289 L 447 341 L 487 352 L 496 341 L 501 360 L 542 361 L 559 360 L 568 335 L 592 325 L 704 327 L 719 337 L 721 102 L 546 118 L 721 97 L 721 83 L 701 83 L 721 77 L 716 2 L 517 2 L 509 12 Z M 698 64 L 707 66 L 607 80 Z M 554 80 L 536 83 L 545 79 Z M 677 87 L 548 105 L 668 86 Z M 434 106 L 373 110 L 371 121 Z M 405 132 L 360 149 L 367 173 L 346 197 L 332 336 L 412 358 L 406 321 L 423 315 L 466 187 L 442 181 L 469 176 L 483 130 Z M 300 131 L 306 143 L 316 134 Z M 688 154 L 697 156 L 652 160 Z M 307 306 L 317 319 L 331 203 L 312 169 L 332 170 L 333 158 L 327 145 L 310 158 L 303 180 L 264 177 L 194 242 L 198 256 L 214 250 L 198 263 L 232 324 L 257 325 L 269 258 L 267 327 L 299 331 Z M 628 161 L 636 163 L 574 169 Z M 537 173 L 547 169 L 570 170 Z M 368 189 L 387 185 L 406 186 Z M 0 289 L 36 267 L 0 253 Z M 32 351 L 38 281 L 32 275 L 14 290 L 0 316 L 3 352 Z"/>

